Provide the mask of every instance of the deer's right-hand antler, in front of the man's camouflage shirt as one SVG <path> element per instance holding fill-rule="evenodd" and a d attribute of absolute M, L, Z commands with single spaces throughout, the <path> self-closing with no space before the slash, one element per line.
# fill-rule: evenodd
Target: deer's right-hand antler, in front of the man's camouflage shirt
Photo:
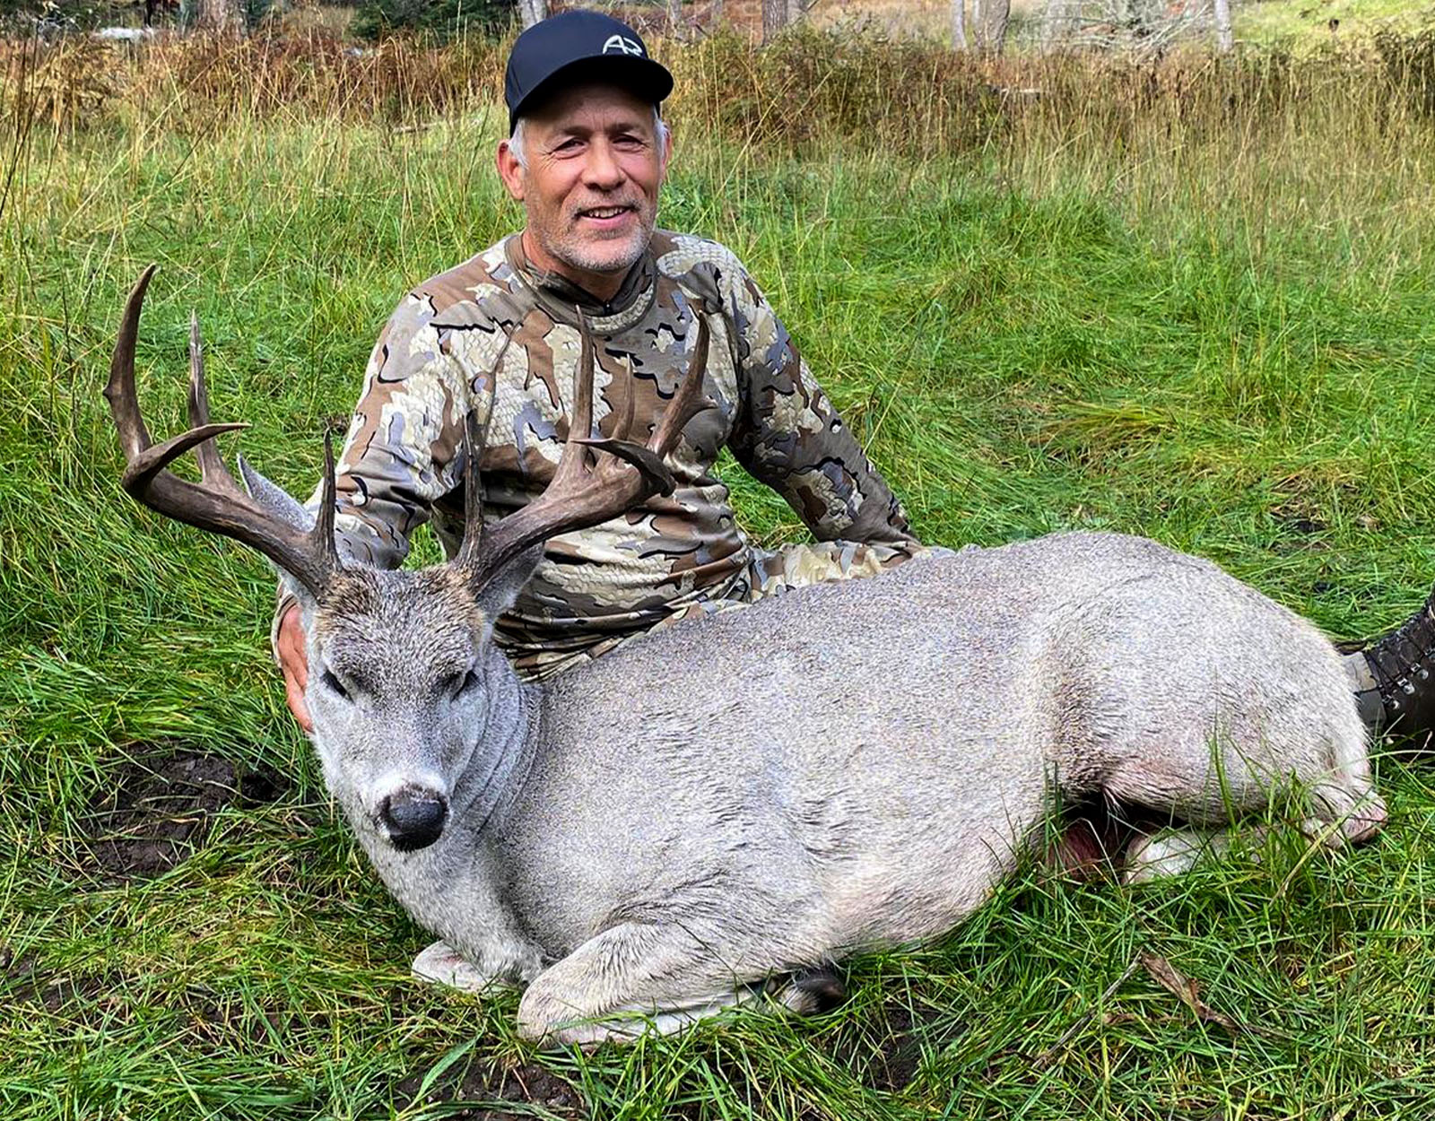
<path fill-rule="evenodd" d="M 663 419 L 646 445 L 629 439 L 633 429 L 633 395 L 627 395 L 624 413 L 611 436 L 594 438 L 593 432 L 593 334 L 578 314 L 581 350 L 573 411 L 568 415 L 568 439 L 554 468 L 552 481 L 532 502 L 509 514 L 486 531 L 478 502 L 478 455 L 482 451 L 481 422 L 469 413 L 466 436 L 465 487 L 468 525 L 455 564 L 469 581 L 484 584 L 504 566 L 540 541 L 573 530 L 616 518 L 651 498 L 672 494 L 677 485 L 663 458 L 677 446 L 683 426 L 707 406 L 703 396 L 703 372 L 707 369 L 707 322 L 697 317 L 693 356 Z"/>

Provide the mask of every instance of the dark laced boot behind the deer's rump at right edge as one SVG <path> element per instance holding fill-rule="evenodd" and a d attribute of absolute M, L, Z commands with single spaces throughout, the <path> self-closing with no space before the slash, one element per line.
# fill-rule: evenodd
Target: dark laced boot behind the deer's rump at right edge
<path fill-rule="evenodd" d="M 1435 732 L 1435 590 L 1399 627 L 1346 657 L 1360 716 L 1375 732 Z"/>

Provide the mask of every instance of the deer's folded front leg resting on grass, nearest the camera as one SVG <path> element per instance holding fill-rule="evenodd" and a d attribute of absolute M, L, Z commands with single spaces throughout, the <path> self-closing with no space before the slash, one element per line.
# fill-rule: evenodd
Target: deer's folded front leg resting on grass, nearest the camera
<path fill-rule="evenodd" d="M 551 1043 L 680 1031 L 762 995 L 673 924 L 621 923 L 544 970 L 518 1005 L 518 1033 Z"/>

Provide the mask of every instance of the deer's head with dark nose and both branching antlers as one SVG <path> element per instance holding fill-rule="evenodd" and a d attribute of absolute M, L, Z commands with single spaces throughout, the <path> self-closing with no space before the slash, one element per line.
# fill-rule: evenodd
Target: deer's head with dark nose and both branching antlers
<path fill-rule="evenodd" d="M 683 426 L 706 408 L 702 377 L 707 327 L 699 319 L 683 385 L 646 444 L 629 436 L 633 398 L 611 436 L 593 435 L 593 340 L 583 337 L 570 438 L 548 488 L 522 510 L 484 528 L 478 462 L 486 418 L 471 411 L 464 442 L 466 530 L 453 560 L 419 571 L 379 571 L 346 563 L 334 544 L 334 455 L 324 439 L 317 514 L 240 456 L 244 487 L 225 468 L 215 436 L 245 428 L 211 423 L 199 326 L 189 329 L 189 429 L 152 444 L 135 389 L 135 339 L 149 266 L 125 303 L 115 343 L 109 400 L 126 466 L 121 485 L 178 521 L 232 537 L 263 553 L 294 590 L 309 636 L 306 700 L 330 792 L 354 827 L 400 851 L 442 834 L 455 797 L 481 799 L 507 738 L 521 732 L 518 689 L 492 649 L 494 620 L 532 574 L 542 543 L 618 517 L 654 494 L 672 494 L 664 465 Z M 580 435 L 581 433 L 581 435 Z M 199 482 L 169 471 L 194 451 Z"/>

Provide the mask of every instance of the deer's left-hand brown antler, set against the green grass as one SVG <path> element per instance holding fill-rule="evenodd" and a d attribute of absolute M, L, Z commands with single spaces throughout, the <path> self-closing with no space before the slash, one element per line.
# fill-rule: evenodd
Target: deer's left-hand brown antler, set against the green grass
<path fill-rule="evenodd" d="M 109 400 L 126 466 L 121 487 L 135 501 L 178 521 L 210 533 L 232 537 L 258 550 L 319 597 L 342 567 L 334 548 L 334 452 L 324 438 L 324 488 L 319 520 L 309 533 L 290 525 L 260 507 L 220 458 L 214 438 L 221 432 L 248 428 L 243 423 L 210 423 L 210 395 L 204 385 L 204 352 L 199 322 L 189 319 L 189 431 L 162 444 L 152 444 L 135 393 L 135 339 L 145 290 L 156 266 L 135 281 L 115 340 L 109 365 Z M 199 461 L 199 482 L 187 482 L 168 469 L 177 458 L 194 449 Z"/>

